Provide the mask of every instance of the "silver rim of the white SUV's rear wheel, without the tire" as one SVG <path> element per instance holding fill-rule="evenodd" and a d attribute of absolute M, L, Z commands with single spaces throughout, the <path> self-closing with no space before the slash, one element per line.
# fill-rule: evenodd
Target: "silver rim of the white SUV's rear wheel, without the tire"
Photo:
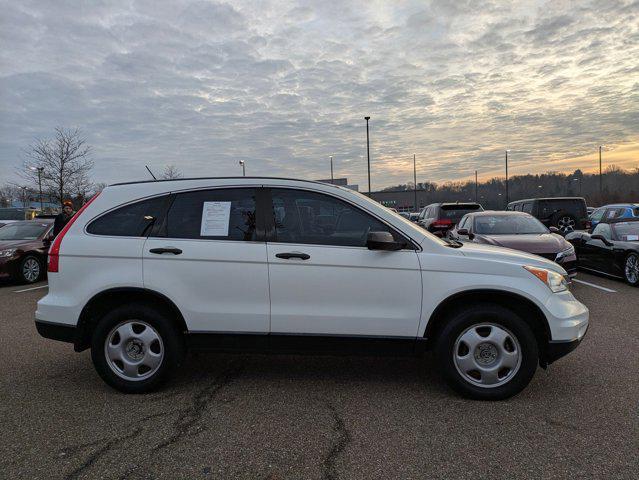
<path fill-rule="evenodd" d="M 117 376 L 140 381 L 158 371 L 164 359 L 164 344 L 157 330 L 141 320 L 127 320 L 107 335 L 104 355 Z"/>

